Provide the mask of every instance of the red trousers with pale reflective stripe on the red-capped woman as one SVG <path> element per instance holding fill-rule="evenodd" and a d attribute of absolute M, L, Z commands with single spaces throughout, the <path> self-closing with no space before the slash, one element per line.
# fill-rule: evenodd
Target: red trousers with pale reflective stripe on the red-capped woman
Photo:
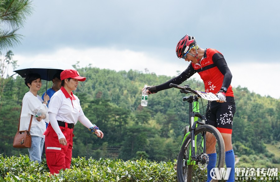
<path fill-rule="evenodd" d="M 61 169 L 70 168 L 72 160 L 73 128 L 59 127 L 66 138 L 67 145 L 59 144 L 58 136 L 49 123 L 45 135 L 46 160 L 50 173 L 59 173 Z"/>

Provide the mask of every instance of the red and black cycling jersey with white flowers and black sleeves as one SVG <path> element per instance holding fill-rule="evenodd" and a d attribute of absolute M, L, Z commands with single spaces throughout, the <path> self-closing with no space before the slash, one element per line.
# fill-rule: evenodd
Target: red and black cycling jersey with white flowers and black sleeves
<path fill-rule="evenodd" d="M 194 73 L 198 73 L 205 85 L 205 92 L 216 94 L 222 87 L 226 87 L 226 96 L 234 96 L 231 86 L 232 74 L 226 64 L 222 53 L 215 49 L 205 49 L 200 64 L 189 64 L 183 73 L 171 80 L 156 86 L 156 91 L 169 89 L 170 83 L 180 85 L 190 78 Z"/>

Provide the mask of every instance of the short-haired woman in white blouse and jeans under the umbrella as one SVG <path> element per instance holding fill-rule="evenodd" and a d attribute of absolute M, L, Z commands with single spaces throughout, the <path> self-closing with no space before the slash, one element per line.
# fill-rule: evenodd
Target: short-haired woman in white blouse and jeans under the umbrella
<path fill-rule="evenodd" d="M 48 119 L 48 107 L 49 100 L 48 95 L 44 95 L 44 100 L 37 95 L 40 90 L 41 76 L 39 74 L 31 73 L 26 76 L 25 84 L 29 88 L 29 91 L 24 95 L 22 99 L 22 110 L 20 118 L 20 130 L 28 130 L 31 115 L 33 115 L 30 135 L 31 135 L 31 147 L 28 148 L 31 161 L 41 162 L 41 156 L 44 146 L 44 131 L 46 130 L 46 123 Z M 42 115 L 35 117 L 36 113 L 42 108 Z"/>

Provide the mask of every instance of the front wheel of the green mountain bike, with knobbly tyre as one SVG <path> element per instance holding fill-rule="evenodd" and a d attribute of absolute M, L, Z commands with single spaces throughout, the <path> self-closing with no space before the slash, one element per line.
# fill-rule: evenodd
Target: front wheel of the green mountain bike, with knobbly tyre
<path fill-rule="evenodd" d="M 195 130 L 195 158 L 191 158 L 191 136 L 185 139 L 177 161 L 177 177 L 179 182 L 206 181 L 209 155 L 217 153 L 217 159 L 210 161 L 212 167 L 221 168 L 225 162 L 225 144 L 221 133 L 211 125 L 201 125 Z M 213 158 L 213 157 L 212 157 Z M 211 157 L 210 157 L 211 159 Z M 215 180 L 212 180 L 215 181 Z"/>

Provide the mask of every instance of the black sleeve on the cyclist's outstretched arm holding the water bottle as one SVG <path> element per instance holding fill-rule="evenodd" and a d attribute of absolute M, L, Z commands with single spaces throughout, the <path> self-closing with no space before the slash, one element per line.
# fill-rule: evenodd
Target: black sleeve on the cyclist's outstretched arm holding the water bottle
<path fill-rule="evenodd" d="M 181 83 L 186 81 L 188 78 L 193 76 L 194 73 L 196 73 L 196 71 L 194 70 L 192 64 L 189 64 L 188 68 L 185 69 L 184 72 L 181 73 L 180 75 L 178 75 L 177 77 L 172 78 L 171 80 L 169 80 L 169 81 L 167 81 L 165 83 L 157 85 L 156 86 L 156 91 L 162 91 L 162 90 L 171 88 L 169 86 L 170 83 L 174 83 L 174 84 L 180 85 Z"/>

